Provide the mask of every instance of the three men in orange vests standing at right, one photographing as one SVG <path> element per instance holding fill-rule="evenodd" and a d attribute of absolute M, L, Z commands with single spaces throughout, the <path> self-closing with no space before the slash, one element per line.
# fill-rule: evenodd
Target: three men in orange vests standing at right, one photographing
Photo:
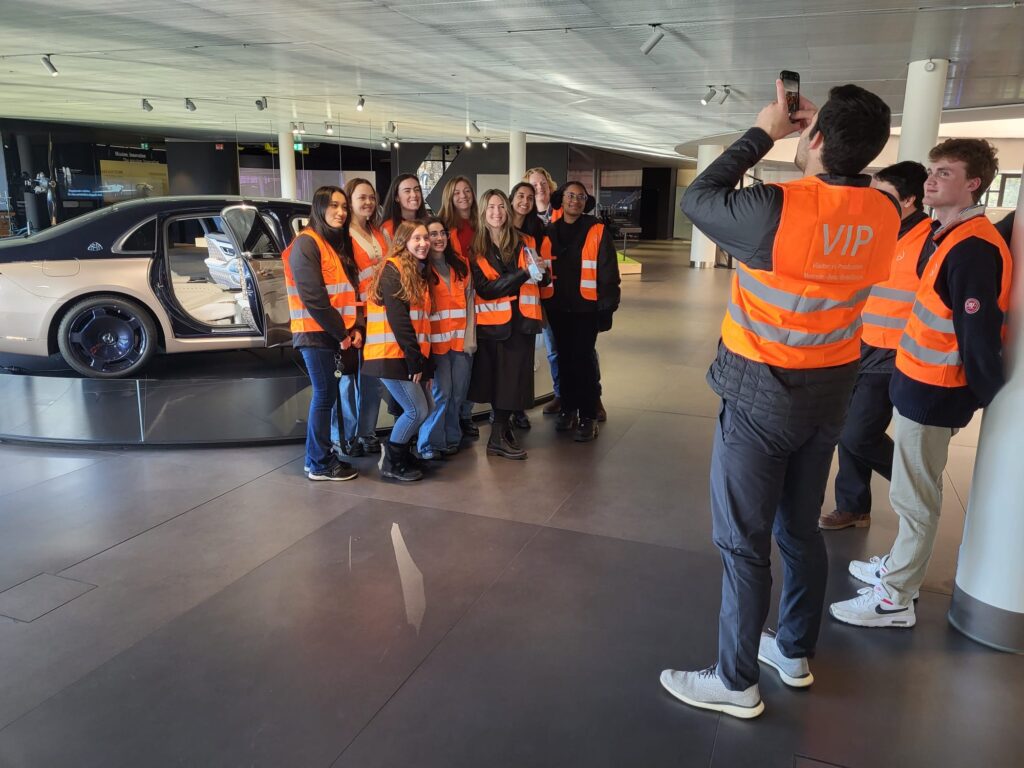
<path fill-rule="evenodd" d="M 868 523 L 872 471 L 891 480 L 899 530 L 888 553 L 849 564 L 866 586 L 829 612 L 856 627 L 914 625 L 949 440 L 1005 381 L 1012 276 L 1009 227 L 1000 233 L 979 202 L 997 172 L 987 141 L 948 139 L 927 168 L 898 163 L 872 178 L 863 169 L 890 134 L 881 98 L 844 85 L 820 110 L 802 98 L 791 113 L 776 88 L 682 203 L 740 265 L 708 373 L 722 398 L 711 473 L 724 566 L 718 659 L 665 670 L 660 682 L 685 703 L 739 718 L 764 711 L 759 664 L 787 686 L 813 683 L 821 529 Z M 803 178 L 736 188 L 797 131 Z M 822 514 L 837 443 L 837 509 Z M 783 581 L 770 632 L 773 536 Z"/>

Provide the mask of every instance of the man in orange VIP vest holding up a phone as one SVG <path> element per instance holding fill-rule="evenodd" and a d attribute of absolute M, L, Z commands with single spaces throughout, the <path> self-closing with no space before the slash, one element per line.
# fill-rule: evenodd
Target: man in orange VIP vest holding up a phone
<path fill-rule="evenodd" d="M 739 718 L 764 711 L 763 662 L 793 687 L 814 678 L 828 561 L 818 529 L 833 453 L 860 357 L 861 311 L 889 274 L 899 213 L 863 168 L 889 138 L 889 106 L 856 85 L 820 111 L 788 112 L 781 81 L 755 127 L 687 189 L 683 212 L 740 262 L 708 381 L 722 397 L 712 449 L 713 538 L 722 556 L 718 663 L 665 670 L 692 707 Z M 736 189 L 774 141 L 800 130 L 804 178 Z M 772 534 L 783 560 L 778 632 Z"/>

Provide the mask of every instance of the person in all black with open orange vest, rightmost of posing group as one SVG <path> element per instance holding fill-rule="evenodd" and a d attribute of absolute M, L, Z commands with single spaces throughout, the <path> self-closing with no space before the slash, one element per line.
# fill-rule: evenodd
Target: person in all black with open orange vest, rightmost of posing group
<path fill-rule="evenodd" d="M 569 181 L 559 193 L 562 216 L 548 226 L 555 290 L 544 302 L 558 350 L 562 410 L 555 429 L 574 428 L 575 440 L 586 442 L 598 432 L 597 334 L 611 328 L 618 308 L 618 258 L 611 232 L 584 213 L 594 202 L 586 187 Z"/>

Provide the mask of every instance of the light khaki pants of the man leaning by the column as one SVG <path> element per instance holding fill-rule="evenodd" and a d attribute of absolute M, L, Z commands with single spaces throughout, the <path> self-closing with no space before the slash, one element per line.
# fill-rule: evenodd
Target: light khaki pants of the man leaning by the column
<path fill-rule="evenodd" d="M 925 582 L 942 511 L 942 472 L 955 429 L 929 427 L 893 410 L 893 477 L 889 501 L 899 515 L 883 584 L 893 600 L 908 604 Z"/>

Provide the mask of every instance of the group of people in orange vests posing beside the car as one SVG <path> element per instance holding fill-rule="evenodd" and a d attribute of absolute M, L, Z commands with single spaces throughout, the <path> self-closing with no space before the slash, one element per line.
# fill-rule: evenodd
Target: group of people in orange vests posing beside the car
<path fill-rule="evenodd" d="M 382 208 L 364 178 L 318 188 L 284 254 L 293 345 L 312 384 L 309 479 L 352 479 L 358 472 L 342 457 L 376 453 L 382 477 L 422 479 L 479 436 L 475 403 L 490 406 L 486 453 L 525 459 L 516 430 L 530 427 L 545 329 L 555 429 L 596 438 L 597 334 L 611 328 L 620 279 L 594 204 L 581 182 L 556 188 L 543 168 L 510 195 L 479 199 L 468 178 L 452 178 L 437 215 L 413 174 L 391 182 Z M 382 400 L 394 416 L 383 442 Z"/>

